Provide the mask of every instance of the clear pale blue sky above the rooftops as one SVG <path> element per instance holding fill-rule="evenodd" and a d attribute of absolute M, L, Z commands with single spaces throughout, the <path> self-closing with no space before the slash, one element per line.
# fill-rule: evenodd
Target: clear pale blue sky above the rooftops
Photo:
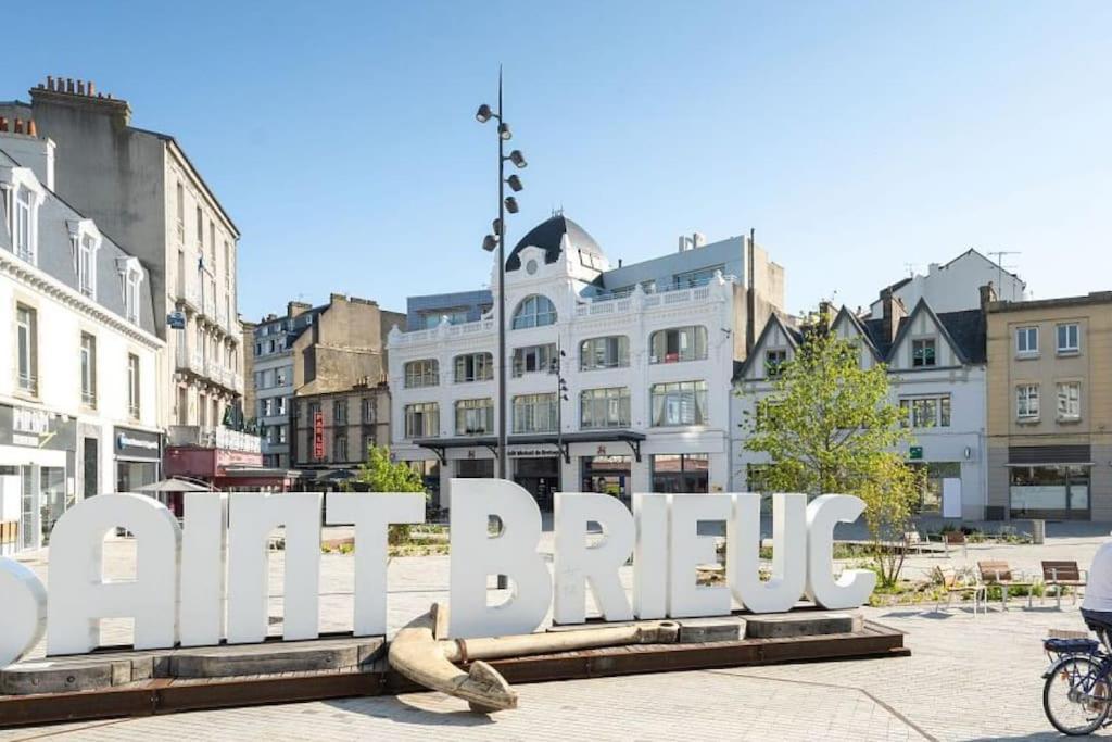
<path fill-rule="evenodd" d="M 0 99 L 92 79 L 178 137 L 242 231 L 249 319 L 486 285 L 499 61 L 510 243 L 554 207 L 627 263 L 754 227 L 793 311 L 969 247 L 1039 298 L 1112 288 L 1109 2 L 254 4 L 0 14 Z"/>

